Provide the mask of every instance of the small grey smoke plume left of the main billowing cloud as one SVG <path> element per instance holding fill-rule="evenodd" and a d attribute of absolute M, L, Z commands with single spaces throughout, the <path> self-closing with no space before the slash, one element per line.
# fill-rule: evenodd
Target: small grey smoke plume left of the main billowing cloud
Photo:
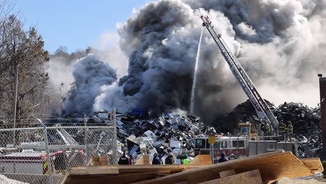
<path fill-rule="evenodd" d="M 98 56 L 89 54 L 74 64 L 72 75 L 75 82 L 63 102 L 63 114 L 92 112 L 94 99 L 100 95 L 100 87 L 116 82 L 116 72 Z"/>

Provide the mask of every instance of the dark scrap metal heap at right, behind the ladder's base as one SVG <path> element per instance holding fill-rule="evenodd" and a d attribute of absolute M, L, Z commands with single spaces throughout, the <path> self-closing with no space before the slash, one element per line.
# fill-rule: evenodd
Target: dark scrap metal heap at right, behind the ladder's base
<path fill-rule="evenodd" d="M 311 108 L 302 103 L 284 102 L 275 107 L 267 102 L 278 121 L 291 122 L 293 125 L 293 139 L 297 141 L 299 155 L 318 155 L 321 146 L 320 108 Z M 217 118 L 214 127 L 218 132 L 231 132 L 236 134 L 238 123 L 251 123 L 254 132 L 259 131 L 261 121 L 256 117 L 256 111 L 249 100 L 233 109 L 230 114 L 224 114 Z"/>

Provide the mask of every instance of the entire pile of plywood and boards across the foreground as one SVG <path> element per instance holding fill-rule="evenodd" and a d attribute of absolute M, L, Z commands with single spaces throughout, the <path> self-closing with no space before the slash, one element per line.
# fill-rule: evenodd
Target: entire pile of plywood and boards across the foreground
<path fill-rule="evenodd" d="M 290 151 L 275 151 L 219 164 L 201 155 L 186 165 L 137 165 L 73 167 L 65 183 L 267 183 L 281 178 L 311 176 L 323 171 L 318 158 L 299 160 Z"/>

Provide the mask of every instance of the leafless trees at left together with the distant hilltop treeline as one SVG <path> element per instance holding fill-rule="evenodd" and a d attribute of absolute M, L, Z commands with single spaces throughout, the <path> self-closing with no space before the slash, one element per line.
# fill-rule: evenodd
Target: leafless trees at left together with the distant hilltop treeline
<path fill-rule="evenodd" d="M 10 14 L 13 6 L 0 1 L 0 121 L 13 118 L 15 109 L 15 81 L 17 76 L 17 120 L 31 118 L 31 114 L 51 113 L 52 102 L 58 103 L 56 89 L 50 89 L 46 66 L 52 57 L 65 61 L 86 56 L 91 48 L 68 53 L 59 47 L 54 54 L 45 50 L 42 36 L 35 27 L 25 28 L 19 13 Z M 16 75 L 16 72 L 18 75 Z"/>

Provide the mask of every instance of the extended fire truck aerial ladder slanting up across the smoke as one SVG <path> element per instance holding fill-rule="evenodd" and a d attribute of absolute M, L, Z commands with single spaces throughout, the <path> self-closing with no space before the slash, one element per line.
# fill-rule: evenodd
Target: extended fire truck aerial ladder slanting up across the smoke
<path fill-rule="evenodd" d="M 279 121 L 277 121 L 277 118 L 274 116 L 265 100 L 261 98 L 261 95 L 258 93 L 256 87 L 254 86 L 254 83 L 251 82 L 251 79 L 247 75 L 247 72 L 244 71 L 239 61 L 232 54 L 231 50 L 228 49 L 228 46 L 222 39 L 221 34 L 217 34 L 214 29 L 214 25 L 212 24 L 212 21 L 210 21 L 208 15 L 201 16 L 201 20 L 203 20 L 203 26 L 208 29 L 208 32 L 210 32 L 210 35 L 215 40 L 215 43 L 221 50 L 222 56 L 224 56 L 224 59 L 228 63 L 228 66 L 230 66 L 234 77 L 238 80 L 244 93 L 246 93 L 251 104 L 256 109 L 258 118 L 260 118 L 261 121 L 266 121 L 270 125 L 272 131 L 277 130 Z"/>

